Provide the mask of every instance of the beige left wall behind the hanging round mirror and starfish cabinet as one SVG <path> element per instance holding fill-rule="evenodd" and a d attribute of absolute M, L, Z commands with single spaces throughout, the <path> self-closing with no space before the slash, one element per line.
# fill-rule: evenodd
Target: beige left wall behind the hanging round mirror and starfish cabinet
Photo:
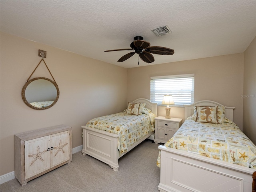
<path fill-rule="evenodd" d="M 40 61 L 38 49 L 60 89 L 58 102 L 34 110 L 22 101 L 21 90 Z M 127 69 L 37 42 L 1 33 L 0 175 L 14 171 L 14 134 L 58 124 L 72 126 L 72 148 L 82 142 L 82 128 L 96 116 L 126 108 Z M 51 78 L 44 63 L 32 78 Z"/>

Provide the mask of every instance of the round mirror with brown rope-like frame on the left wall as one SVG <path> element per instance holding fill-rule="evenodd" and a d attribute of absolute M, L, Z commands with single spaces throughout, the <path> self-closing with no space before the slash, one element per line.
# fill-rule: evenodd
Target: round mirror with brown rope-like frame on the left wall
<path fill-rule="evenodd" d="M 22 88 L 22 100 L 24 103 L 37 110 L 48 109 L 58 100 L 60 90 L 58 85 L 44 77 L 29 80 Z"/>

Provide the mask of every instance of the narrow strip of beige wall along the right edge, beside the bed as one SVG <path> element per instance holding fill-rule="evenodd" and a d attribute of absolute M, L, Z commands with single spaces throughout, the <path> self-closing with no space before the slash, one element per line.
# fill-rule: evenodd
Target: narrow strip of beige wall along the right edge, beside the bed
<path fill-rule="evenodd" d="M 244 52 L 243 130 L 256 144 L 256 37 Z"/>

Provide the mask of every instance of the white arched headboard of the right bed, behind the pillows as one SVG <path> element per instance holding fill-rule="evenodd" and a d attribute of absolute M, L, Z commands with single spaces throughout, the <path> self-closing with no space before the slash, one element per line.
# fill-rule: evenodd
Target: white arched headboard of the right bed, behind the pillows
<path fill-rule="evenodd" d="M 193 104 L 190 104 L 190 105 L 184 105 L 184 107 L 185 107 L 184 118 L 185 119 L 188 118 L 189 116 L 191 116 L 192 114 L 194 114 L 195 106 L 224 106 L 224 105 L 217 103 L 215 101 L 209 101 L 209 100 L 202 100 L 202 101 L 198 101 Z M 231 121 L 233 121 L 233 110 L 234 109 L 235 109 L 235 107 L 225 106 L 225 116 L 226 116 L 226 118 L 230 119 Z"/>

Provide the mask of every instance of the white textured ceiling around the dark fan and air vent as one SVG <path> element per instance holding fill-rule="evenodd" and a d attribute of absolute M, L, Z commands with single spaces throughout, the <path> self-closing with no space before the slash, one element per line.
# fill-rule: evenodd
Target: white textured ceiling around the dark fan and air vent
<path fill-rule="evenodd" d="M 130 51 L 104 50 L 130 48 L 135 36 L 174 49 L 151 64 L 241 53 L 256 36 L 256 0 L 1 0 L 0 11 L 2 32 L 125 68 L 138 54 L 117 62 Z M 172 33 L 151 31 L 164 25 Z"/>

